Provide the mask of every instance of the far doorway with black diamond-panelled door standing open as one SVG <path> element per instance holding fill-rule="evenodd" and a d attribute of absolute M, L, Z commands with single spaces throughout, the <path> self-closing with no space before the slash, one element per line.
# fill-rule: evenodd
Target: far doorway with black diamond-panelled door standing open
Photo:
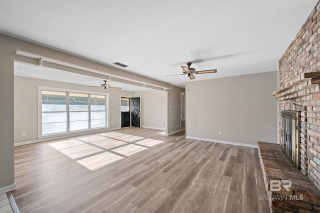
<path fill-rule="evenodd" d="M 121 128 L 128 126 L 140 127 L 140 97 L 121 97 Z"/>

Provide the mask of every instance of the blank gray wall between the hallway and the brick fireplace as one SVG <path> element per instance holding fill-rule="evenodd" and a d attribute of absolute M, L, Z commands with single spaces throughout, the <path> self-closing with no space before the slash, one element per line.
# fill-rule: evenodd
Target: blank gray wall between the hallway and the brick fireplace
<path fill-rule="evenodd" d="M 274 90 L 276 71 L 188 81 L 186 136 L 250 145 L 276 142 Z"/>

